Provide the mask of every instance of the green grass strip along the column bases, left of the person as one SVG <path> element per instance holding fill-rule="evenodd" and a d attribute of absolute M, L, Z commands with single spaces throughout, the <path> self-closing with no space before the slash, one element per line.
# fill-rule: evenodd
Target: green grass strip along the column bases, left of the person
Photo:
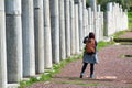
<path fill-rule="evenodd" d="M 40 77 L 30 77 L 29 80 L 21 80 L 19 88 L 31 86 L 32 84 L 37 82 L 37 81 L 48 81 L 52 78 L 52 76 L 58 73 L 61 68 L 63 68 L 66 64 L 73 61 L 79 59 L 81 58 L 81 56 L 82 56 L 81 54 L 75 55 L 75 56 L 66 58 L 65 61 L 62 61 L 59 64 L 54 64 L 52 69 L 44 72 L 44 74 L 42 74 Z"/>

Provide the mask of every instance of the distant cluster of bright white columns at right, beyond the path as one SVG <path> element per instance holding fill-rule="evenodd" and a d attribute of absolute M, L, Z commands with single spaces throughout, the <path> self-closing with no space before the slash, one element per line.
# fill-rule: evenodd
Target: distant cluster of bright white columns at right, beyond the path
<path fill-rule="evenodd" d="M 118 31 L 128 29 L 128 13 L 123 11 L 122 7 L 116 2 L 107 4 L 106 12 L 106 35 L 112 35 Z"/>

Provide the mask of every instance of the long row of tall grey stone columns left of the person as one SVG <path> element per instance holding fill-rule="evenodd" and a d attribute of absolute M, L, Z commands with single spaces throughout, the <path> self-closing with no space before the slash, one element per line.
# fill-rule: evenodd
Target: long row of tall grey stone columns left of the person
<path fill-rule="evenodd" d="M 0 86 L 79 54 L 89 32 L 103 40 L 103 12 L 96 0 L 90 3 L 86 8 L 86 0 L 1 0 Z"/>

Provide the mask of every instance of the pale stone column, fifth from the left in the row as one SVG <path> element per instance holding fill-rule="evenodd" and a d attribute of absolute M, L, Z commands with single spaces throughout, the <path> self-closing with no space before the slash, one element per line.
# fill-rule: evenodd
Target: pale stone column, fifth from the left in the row
<path fill-rule="evenodd" d="M 51 37 L 51 18 L 50 0 L 44 0 L 44 58 L 45 68 L 52 68 L 52 37 Z"/>

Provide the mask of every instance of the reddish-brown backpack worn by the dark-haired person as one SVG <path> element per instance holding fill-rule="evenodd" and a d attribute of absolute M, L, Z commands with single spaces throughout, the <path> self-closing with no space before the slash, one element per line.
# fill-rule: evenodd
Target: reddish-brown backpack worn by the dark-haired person
<path fill-rule="evenodd" d="M 94 38 L 86 38 L 85 52 L 88 54 L 95 53 L 95 40 Z"/>

